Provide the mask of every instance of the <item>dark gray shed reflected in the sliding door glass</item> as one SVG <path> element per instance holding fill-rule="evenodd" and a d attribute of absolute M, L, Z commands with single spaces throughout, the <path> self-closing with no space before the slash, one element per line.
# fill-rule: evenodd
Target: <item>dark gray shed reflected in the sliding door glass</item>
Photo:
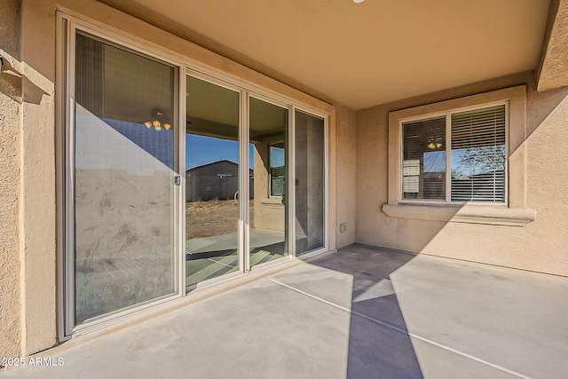
<path fill-rule="evenodd" d="M 249 170 L 253 198 L 253 170 Z M 223 160 L 185 171 L 185 201 L 233 199 L 239 191 L 239 165 Z"/>

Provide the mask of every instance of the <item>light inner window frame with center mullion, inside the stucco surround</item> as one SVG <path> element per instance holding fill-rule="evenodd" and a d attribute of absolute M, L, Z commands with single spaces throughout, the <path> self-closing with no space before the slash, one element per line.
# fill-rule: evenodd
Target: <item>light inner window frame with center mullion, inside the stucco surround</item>
<path fill-rule="evenodd" d="M 495 107 L 495 106 L 505 106 L 505 198 L 504 201 L 452 201 L 452 115 L 458 114 L 461 112 L 468 112 L 472 110 L 480 110 L 487 107 Z M 435 119 L 442 119 L 445 118 L 445 138 L 446 138 L 446 146 L 443 150 L 446 153 L 445 157 L 445 179 L 444 179 L 444 186 L 445 186 L 445 200 L 438 200 L 438 199 L 404 199 L 403 193 L 403 180 L 404 180 L 404 126 L 406 123 L 409 122 L 422 122 L 422 121 L 429 121 Z M 495 101 L 485 104 L 479 104 L 470 107 L 461 107 L 461 108 L 453 108 L 447 109 L 444 112 L 439 112 L 436 114 L 423 114 L 420 116 L 410 117 L 410 118 L 401 118 L 398 120 L 398 130 L 400 133 L 399 141 L 400 141 L 400 174 L 398 178 L 398 202 L 399 203 L 409 203 L 409 204 L 419 204 L 419 203 L 432 203 L 432 204 L 477 204 L 477 205 L 492 205 L 492 206 L 507 206 L 508 205 L 508 188 L 509 188 L 509 180 L 508 180 L 508 157 L 509 157 L 509 100 L 501 100 Z"/>

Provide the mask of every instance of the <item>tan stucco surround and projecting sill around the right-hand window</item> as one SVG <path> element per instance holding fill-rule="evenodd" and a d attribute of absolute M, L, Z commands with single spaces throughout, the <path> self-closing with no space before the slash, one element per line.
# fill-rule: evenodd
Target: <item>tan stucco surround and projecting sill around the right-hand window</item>
<path fill-rule="evenodd" d="M 505 103 L 508 106 L 505 203 L 402 201 L 401 121 L 420 120 L 455 110 Z M 463 98 L 400 109 L 389 113 L 388 195 L 383 212 L 389 217 L 417 220 L 523 226 L 536 218 L 526 194 L 526 86 L 518 85 Z M 446 127 L 446 133 L 449 128 Z M 446 164 L 447 164 L 446 160 Z M 447 165 L 446 165 L 447 167 Z"/>

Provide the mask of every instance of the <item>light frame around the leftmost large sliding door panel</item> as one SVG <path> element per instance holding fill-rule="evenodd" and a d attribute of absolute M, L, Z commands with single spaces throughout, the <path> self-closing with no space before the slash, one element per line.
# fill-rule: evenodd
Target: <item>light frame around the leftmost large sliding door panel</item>
<path fill-rule="evenodd" d="M 64 89 L 64 95 L 61 96 L 62 104 L 64 106 L 64 113 L 61 115 L 61 121 L 64 123 L 61 134 L 64 137 L 62 154 L 62 162 L 64 163 L 62 176 L 63 187 L 62 197 L 65 204 L 65 210 L 62 211 L 62 216 L 65 220 L 62 221 L 64 234 L 65 234 L 65 246 L 63 257 L 61 257 L 62 264 L 59 266 L 60 272 L 59 277 L 62 278 L 62 290 L 59 309 L 61 306 L 62 322 L 59 324 L 62 328 L 60 330 L 59 336 L 61 340 L 68 339 L 71 335 L 81 335 L 84 333 L 89 333 L 92 330 L 99 328 L 104 328 L 105 326 L 113 325 L 117 322 L 124 320 L 125 318 L 130 318 L 133 314 L 138 312 L 144 312 L 148 308 L 153 307 L 156 304 L 162 304 L 169 302 L 171 299 L 185 296 L 185 265 L 179 259 L 179 251 L 185 251 L 185 241 L 179 238 L 180 233 L 182 233 L 182 217 L 180 212 L 180 203 L 182 200 L 182 186 L 176 186 L 173 183 L 172 186 L 172 199 L 170 203 L 171 210 L 173 212 L 173 225 L 171 233 L 173 236 L 172 243 L 172 254 L 173 259 L 173 292 L 168 295 L 158 296 L 154 299 L 149 299 L 140 304 L 133 304 L 113 312 L 107 312 L 88 320 L 81 325 L 75 325 L 75 185 L 74 185 L 74 170 L 75 170 L 75 39 L 77 32 L 81 31 L 99 39 L 103 43 L 109 45 L 114 45 L 124 51 L 129 51 L 131 53 L 137 54 L 139 56 L 145 57 L 146 59 L 155 59 L 157 61 L 163 62 L 175 67 L 177 75 L 174 77 L 174 120 L 173 127 L 174 133 L 174 168 L 173 177 L 180 175 L 180 163 L 182 158 L 185 156 L 185 145 L 181 143 L 181 132 L 185 133 L 185 128 L 181 130 L 179 124 L 181 120 L 185 120 L 185 64 L 163 53 L 162 51 L 154 51 L 153 49 L 148 49 L 143 44 L 136 43 L 127 37 L 121 38 L 117 37 L 114 33 L 109 33 L 106 29 L 99 28 L 91 25 L 90 23 L 84 22 L 83 20 L 76 19 L 75 17 L 63 15 L 58 13 L 58 27 L 62 32 L 59 34 L 59 41 L 63 46 L 65 46 L 64 53 L 60 54 L 58 57 L 60 67 L 64 67 L 63 75 L 61 80 L 64 83 L 60 84 L 60 87 Z M 63 55 L 63 56 L 61 56 Z M 182 80 L 183 79 L 183 80 Z M 184 139 L 185 140 L 185 139 Z M 184 154 L 184 155 L 182 155 Z"/>

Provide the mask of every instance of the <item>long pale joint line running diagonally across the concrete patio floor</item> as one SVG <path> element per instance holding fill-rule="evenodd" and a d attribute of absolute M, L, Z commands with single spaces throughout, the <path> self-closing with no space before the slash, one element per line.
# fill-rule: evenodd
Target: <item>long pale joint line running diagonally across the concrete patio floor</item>
<path fill-rule="evenodd" d="M 402 333 L 403 335 L 411 336 L 411 337 L 416 338 L 416 339 L 418 339 L 418 340 L 421 340 L 421 341 L 423 341 L 423 342 L 425 342 L 425 343 L 430 343 L 430 344 L 432 344 L 432 345 L 434 345 L 434 346 L 438 346 L 438 347 L 441 348 L 441 349 L 444 349 L 444 350 L 447 350 L 447 351 L 452 351 L 452 352 L 454 352 L 455 354 L 461 355 L 462 357 L 465 357 L 465 358 L 468 358 L 468 359 L 476 360 L 476 361 L 479 362 L 479 363 L 483 363 L 484 365 L 487 365 L 487 366 L 496 368 L 496 369 L 498 369 L 498 370 L 504 371 L 504 372 L 506 372 L 506 373 L 508 373 L 508 374 L 510 374 L 510 375 L 516 375 L 516 376 L 518 376 L 519 378 L 523 378 L 523 379 L 532 379 L 530 376 L 526 376 L 526 375 L 517 373 L 517 371 L 510 370 L 510 369 L 507 368 L 507 367 L 502 367 L 502 366 L 499 366 L 499 365 L 497 365 L 497 364 L 495 364 L 495 363 L 491 363 L 491 362 L 489 362 L 489 361 L 487 361 L 487 360 L 485 360 L 485 359 L 477 358 L 477 357 L 475 357 L 475 356 L 473 356 L 473 355 L 468 354 L 467 352 L 459 351 L 459 350 L 456 350 L 456 349 L 454 349 L 454 348 L 452 348 L 452 347 L 450 347 L 450 346 L 446 346 L 446 345 L 443 344 L 443 343 L 437 343 L 437 342 L 435 342 L 435 341 L 430 340 L 429 338 L 422 337 L 422 336 L 417 336 L 417 335 L 415 335 L 414 333 L 410 333 L 410 332 L 408 332 L 408 331 L 405 330 L 405 329 L 398 328 L 398 327 L 396 327 L 396 326 L 394 326 L 394 325 L 389 324 L 388 322 L 384 322 L 384 321 L 381 321 L 381 320 L 376 320 L 376 319 L 374 319 L 374 318 L 372 318 L 372 317 L 370 317 L 370 316 L 367 316 L 366 314 L 359 313 L 359 312 L 356 312 L 356 311 L 352 311 L 351 309 L 349 309 L 349 308 L 347 308 L 347 307 L 344 307 L 344 306 L 342 306 L 342 305 L 332 303 L 332 302 L 327 301 L 327 300 L 325 300 L 325 299 L 322 299 L 322 298 L 320 298 L 320 297 L 318 297 L 318 296 L 313 296 L 313 295 L 311 295 L 311 294 L 308 294 L 307 292 L 304 292 L 304 291 L 301 290 L 301 289 L 294 288 L 294 287 L 292 287 L 292 286 L 289 286 L 288 284 L 282 283 L 282 282 L 279 281 L 279 280 L 275 280 L 275 279 L 270 278 L 270 277 L 268 278 L 268 280 L 271 280 L 272 282 L 274 282 L 274 283 L 276 283 L 276 284 L 278 284 L 278 285 L 280 285 L 280 286 L 282 286 L 282 287 L 286 287 L 286 288 L 289 288 L 289 289 L 291 289 L 291 290 L 293 290 L 293 291 L 296 291 L 296 292 L 298 292 L 298 293 L 300 293 L 300 294 L 302 294 L 302 295 L 304 295 L 304 296 L 312 297 L 312 299 L 318 300 L 318 301 L 321 302 L 321 303 L 325 303 L 325 304 L 331 305 L 331 306 L 333 306 L 333 307 L 335 307 L 335 308 L 337 308 L 337 309 L 340 309 L 340 310 L 342 310 L 342 311 L 349 312 L 349 313 L 354 314 L 354 315 L 356 315 L 356 316 L 362 317 L 362 318 L 365 319 L 365 320 L 369 320 L 369 321 L 371 321 L 371 322 L 373 322 L 373 323 L 375 323 L 375 324 L 381 325 L 381 326 L 383 326 L 383 327 L 385 327 L 385 328 L 390 328 L 391 330 L 394 330 L 394 331 L 397 332 L 397 333 Z"/>

